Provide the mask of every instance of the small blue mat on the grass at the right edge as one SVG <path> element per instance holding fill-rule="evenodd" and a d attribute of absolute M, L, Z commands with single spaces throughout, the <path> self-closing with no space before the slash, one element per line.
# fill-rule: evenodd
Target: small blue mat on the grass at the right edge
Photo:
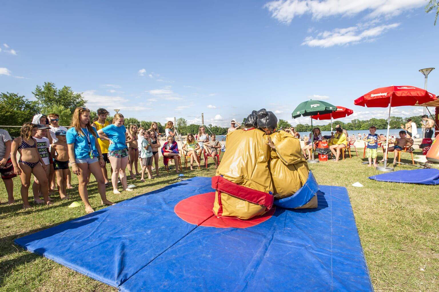
<path fill-rule="evenodd" d="M 369 177 L 371 180 L 406 184 L 439 184 L 439 169 L 398 170 Z"/>

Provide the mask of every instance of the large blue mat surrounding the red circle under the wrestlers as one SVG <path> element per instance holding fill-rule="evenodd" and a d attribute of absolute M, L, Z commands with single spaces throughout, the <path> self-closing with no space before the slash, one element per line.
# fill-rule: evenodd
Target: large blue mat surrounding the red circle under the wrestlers
<path fill-rule="evenodd" d="M 248 228 L 189 224 L 177 202 L 212 191 L 194 177 L 15 240 L 120 291 L 373 291 L 344 187 L 319 208 L 277 207 Z"/>

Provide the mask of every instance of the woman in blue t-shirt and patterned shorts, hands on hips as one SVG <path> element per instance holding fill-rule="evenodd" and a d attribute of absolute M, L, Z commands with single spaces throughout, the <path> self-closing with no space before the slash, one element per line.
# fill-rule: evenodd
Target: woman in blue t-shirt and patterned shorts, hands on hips
<path fill-rule="evenodd" d="M 110 141 L 110 146 L 108 147 L 108 159 L 110 159 L 111 167 L 113 169 L 111 183 L 115 195 L 120 194 L 117 189 L 118 176 L 120 177 L 123 191 L 133 191 L 128 188 L 128 185 L 126 184 L 125 169 L 128 164 L 128 149 L 126 144 L 133 142 L 134 138 L 131 133 L 125 129 L 125 126 L 123 126 L 124 122 L 125 119 L 122 114 L 115 114 L 111 125 L 97 131 L 101 139 Z"/>

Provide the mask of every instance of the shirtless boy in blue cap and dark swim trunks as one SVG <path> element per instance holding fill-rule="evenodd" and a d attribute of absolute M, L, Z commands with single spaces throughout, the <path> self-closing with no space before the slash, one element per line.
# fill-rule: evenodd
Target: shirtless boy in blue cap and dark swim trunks
<path fill-rule="evenodd" d="M 70 173 L 70 169 L 68 168 L 68 149 L 65 135 L 65 130 L 56 131 L 57 141 L 52 144 L 50 149 L 50 154 L 54 158 L 56 182 L 61 200 L 69 199 L 67 195 L 67 175 Z"/>

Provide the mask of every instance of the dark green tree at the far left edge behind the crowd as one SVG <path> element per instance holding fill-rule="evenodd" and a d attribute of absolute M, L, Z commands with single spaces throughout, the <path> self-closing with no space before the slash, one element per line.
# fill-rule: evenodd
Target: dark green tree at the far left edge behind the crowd
<path fill-rule="evenodd" d="M 33 115 L 38 113 L 38 102 L 29 101 L 16 93 L 0 94 L 0 125 L 21 126 L 25 122 L 32 122 Z M 7 128 L 11 136 L 17 137 L 20 128 Z"/>

